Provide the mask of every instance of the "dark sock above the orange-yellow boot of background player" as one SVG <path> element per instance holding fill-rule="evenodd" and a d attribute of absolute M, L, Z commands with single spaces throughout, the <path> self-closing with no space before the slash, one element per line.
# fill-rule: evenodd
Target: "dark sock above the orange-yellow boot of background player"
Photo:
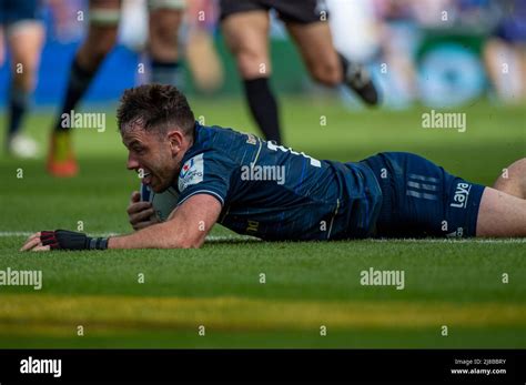
<path fill-rule="evenodd" d="M 89 71 L 89 70 L 83 69 L 79 64 L 79 61 L 77 58 L 73 60 L 73 63 L 71 65 L 70 77 L 68 80 L 68 90 L 65 91 L 65 99 L 62 105 L 62 111 L 59 115 L 57 124 L 54 125 L 55 132 L 69 131 L 68 128 L 62 126 L 61 116 L 63 113 L 67 113 L 67 114 L 71 113 L 71 110 L 74 109 L 79 100 L 83 97 L 83 94 L 90 87 L 91 81 L 93 80 L 95 73 L 97 73 L 97 70 Z"/>

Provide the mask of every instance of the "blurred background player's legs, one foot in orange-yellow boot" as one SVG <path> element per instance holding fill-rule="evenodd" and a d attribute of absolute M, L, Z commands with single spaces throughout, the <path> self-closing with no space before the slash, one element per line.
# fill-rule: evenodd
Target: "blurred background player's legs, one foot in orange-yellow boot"
<path fill-rule="evenodd" d="M 173 84 L 179 67 L 178 30 L 185 0 L 151 0 L 150 40 L 152 82 Z M 78 172 L 71 144 L 71 132 L 62 126 L 63 113 L 70 113 L 93 81 L 107 54 L 117 43 L 120 0 L 91 0 L 88 37 L 73 60 L 61 112 L 57 119 L 48 156 L 48 171 L 55 176 L 72 176 Z"/>

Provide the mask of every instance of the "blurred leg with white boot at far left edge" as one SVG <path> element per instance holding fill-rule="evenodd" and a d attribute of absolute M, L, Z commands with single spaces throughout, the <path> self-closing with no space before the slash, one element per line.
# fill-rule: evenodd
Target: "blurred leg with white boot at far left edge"
<path fill-rule="evenodd" d="M 11 54 L 11 83 L 7 131 L 8 153 L 20 158 L 34 158 L 37 143 L 22 135 L 22 119 L 36 85 L 44 30 L 38 18 L 37 0 L 0 2 L 0 65 L 6 58 L 3 41 Z"/>

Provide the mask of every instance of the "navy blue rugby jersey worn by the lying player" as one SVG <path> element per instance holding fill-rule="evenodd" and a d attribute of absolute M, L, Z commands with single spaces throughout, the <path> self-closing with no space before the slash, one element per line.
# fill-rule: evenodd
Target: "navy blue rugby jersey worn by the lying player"
<path fill-rule="evenodd" d="M 196 123 L 182 163 L 178 205 L 210 194 L 221 202 L 220 224 L 263 240 L 368 236 L 382 204 L 367 165 L 320 161 L 231 129 Z"/>

